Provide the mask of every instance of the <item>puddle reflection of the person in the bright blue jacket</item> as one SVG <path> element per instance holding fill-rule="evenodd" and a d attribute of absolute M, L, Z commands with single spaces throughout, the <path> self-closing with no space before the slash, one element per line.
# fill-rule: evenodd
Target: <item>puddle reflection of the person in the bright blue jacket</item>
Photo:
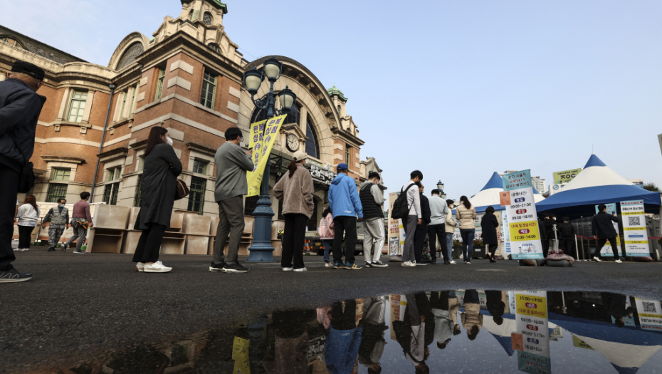
<path fill-rule="evenodd" d="M 332 305 L 331 327 L 324 347 L 324 360 L 331 374 L 350 374 L 359 353 L 363 328 L 356 325 L 357 301 L 337 301 Z"/>

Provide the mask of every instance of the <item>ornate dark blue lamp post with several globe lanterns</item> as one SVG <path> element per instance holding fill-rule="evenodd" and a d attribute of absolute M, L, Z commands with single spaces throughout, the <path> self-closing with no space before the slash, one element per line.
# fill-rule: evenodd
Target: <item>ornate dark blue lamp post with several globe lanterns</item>
<path fill-rule="evenodd" d="M 285 86 L 285 90 L 278 93 L 278 100 L 280 102 L 280 109 L 275 108 L 275 94 L 273 93 L 273 83 L 280 78 L 280 73 L 283 69 L 283 64 L 276 60 L 275 56 L 271 56 L 264 61 L 262 71 L 257 68 L 252 68 L 243 74 L 243 87 L 246 88 L 248 93 L 251 94 L 253 104 L 261 110 L 267 111 L 267 119 L 273 118 L 276 115 L 283 115 L 289 113 L 294 103 L 297 100 L 297 95 Z M 265 98 L 256 99 L 255 95 L 262 85 L 264 78 L 269 80 L 271 87 L 269 93 Z M 266 126 L 265 126 L 266 128 Z M 269 198 L 269 172 L 271 169 L 270 162 L 271 153 L 263 157 L 267 157 L 267 165 L 264 168 L 262 177 L 262 189 L 260 198 L 258 199 L 257 206 L 253 211 L 255 217 L 255 226 L 253 228 L 253 245 L 248 250 L 251 254 L 246 261 L 249 262 L 274 262 L 273 259 L 273 246 L 271 246 L 271 217 L 273 217 L 273 209 L 271 209 L 271 199 Z"/>

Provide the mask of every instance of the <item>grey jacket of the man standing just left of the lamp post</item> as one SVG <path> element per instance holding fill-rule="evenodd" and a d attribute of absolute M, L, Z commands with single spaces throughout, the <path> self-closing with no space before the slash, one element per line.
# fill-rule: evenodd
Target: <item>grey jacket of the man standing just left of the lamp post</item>
<path fill-rule="evenodd" d="M 214 200 L 222 202 L 231 197 L 248 194 L 246 172 L 253 170 L 251 156 L 241 147 L 224 142 L 214 156 L 216 162 L 216 184 Z"/>

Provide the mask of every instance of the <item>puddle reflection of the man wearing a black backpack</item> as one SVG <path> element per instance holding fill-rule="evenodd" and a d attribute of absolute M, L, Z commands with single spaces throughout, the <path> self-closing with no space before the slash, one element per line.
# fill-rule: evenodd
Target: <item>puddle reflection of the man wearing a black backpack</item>
<path fill-rule="evenodd" d="M 421 313 L 421 308 L 425 308 L 425 306 L 419 306 L 419 303 L 427 303 L 427 297 L 423 294 L 421 298 L 419 294 L 405 295 L 407 306 L 404 312 L 404 321 L 393 321 L 393 330 L 396 341 L 402 347 L 404 357 L 416 368 L 416 374 L 428 374 L 430 373 L 430 368 L 426 365 L 425 360 L 430 355 L 430 352 L 425 348 L 426 318 L 425 313 Z M 424 302 L 422 302 L 423 298 L 425 298 Z"/>

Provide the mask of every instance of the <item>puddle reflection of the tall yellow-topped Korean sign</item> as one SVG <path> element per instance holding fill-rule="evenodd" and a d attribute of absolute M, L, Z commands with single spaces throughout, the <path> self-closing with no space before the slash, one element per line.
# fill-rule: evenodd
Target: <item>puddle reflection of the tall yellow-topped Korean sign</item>
<path fill-rule="evenodd" d="M 547 291 L 515 291 L 513 336 L 516 336 L 517 348 L 520 348 L 517 350 L 517 369 L 532 374 L 552 373 L 549 325 Z"/>

